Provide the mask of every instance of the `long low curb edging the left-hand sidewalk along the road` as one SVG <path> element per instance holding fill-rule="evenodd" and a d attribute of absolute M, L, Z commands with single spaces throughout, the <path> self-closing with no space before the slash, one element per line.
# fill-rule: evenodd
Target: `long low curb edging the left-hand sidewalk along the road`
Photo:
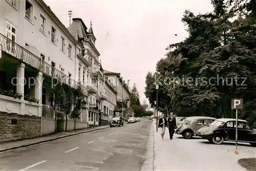
<path fill-rule="evenodd" d="M 23 144 L 23 145 L 19 145 L 19 146 L 14 146 L 14 147 L 7 148 L 7 149 L 1 149 L 1 150 L 0 150 L 0 154 L 3 153 L 3 152 L 10 151 L 10 150 L 12 150 L 12 149 L 17 149 L 17 148 L 23 148 L 23 147 L 33 146 L 33 145 L 41 144 L 41 143 L 44 143 L 44 142 L 49 142 L 49 141 L 54 141 L 54 140 L 61 139 L 61 138 L 66 138 L 66 137 L 75 136 L 75 135 L 78 135 L 78 134 L 89 133 L 89 132 L 93 132 L 93 131 L 97 131 L 97 130 L 103 130 L 103 129 L 106 129 L 106 128 L 108 128 L 108 127 L 110 127 L 110 126 L 102 127 L 102 128 L 99 128 L 99 129 L 93 129 L 93 130 L 83 131 L 83 132 L 79 132 L 79 133 L 75 133 L 75 134 L 70 134 L 70 135 L 63 135 L 63 136 L 60 136 L 60 137 L 51 138 L 51 139 L 48 139 L 48 140 L 41 140 L 41 141 L 37 141 L 37 142 L 29 143 L 29 144 Z"/>

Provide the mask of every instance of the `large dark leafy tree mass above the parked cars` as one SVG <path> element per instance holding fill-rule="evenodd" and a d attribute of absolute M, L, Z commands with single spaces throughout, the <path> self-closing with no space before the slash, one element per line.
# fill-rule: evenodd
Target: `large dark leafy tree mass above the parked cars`
<path fill-rule="evenodd" d="M 145 95 L 178 116 L 233 118 L 231 98 L 243 98 L 239 117 L 256 126 L 256 2 L 212 0 L 214 12 L 185 11 L 188 37 L 169 45 L 146 75 Z"/>

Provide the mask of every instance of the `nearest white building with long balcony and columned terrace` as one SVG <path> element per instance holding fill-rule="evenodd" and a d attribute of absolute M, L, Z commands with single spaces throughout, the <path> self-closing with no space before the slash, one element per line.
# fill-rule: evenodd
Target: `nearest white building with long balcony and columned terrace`
<path fill-rule="evenodd" d="M 0 11 L 1 89 L 14 92 L 1 93 L 1 112 L 52 118 L 53 78 L 78 85 L 78 66 L 89 67 L 80 60 L 83 47 L 44 1 L 1 1 Z"/>

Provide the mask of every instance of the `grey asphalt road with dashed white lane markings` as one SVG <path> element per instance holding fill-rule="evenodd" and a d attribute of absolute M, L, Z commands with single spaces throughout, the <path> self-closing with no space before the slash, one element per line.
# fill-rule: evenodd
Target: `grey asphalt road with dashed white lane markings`
<path fill-rule="evenodd" d="M 2 170 L 140 170 L 152 121 L 124 124 L 0 155 Z"/>

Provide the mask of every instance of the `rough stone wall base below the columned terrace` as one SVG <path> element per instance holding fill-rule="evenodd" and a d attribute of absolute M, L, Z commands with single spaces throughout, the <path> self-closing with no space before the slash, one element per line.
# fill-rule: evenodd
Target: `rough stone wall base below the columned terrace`
<path fill-rule="evenodd" d="M 40 136 L 41 118 L 0 113 L 0 142 Z"/>

